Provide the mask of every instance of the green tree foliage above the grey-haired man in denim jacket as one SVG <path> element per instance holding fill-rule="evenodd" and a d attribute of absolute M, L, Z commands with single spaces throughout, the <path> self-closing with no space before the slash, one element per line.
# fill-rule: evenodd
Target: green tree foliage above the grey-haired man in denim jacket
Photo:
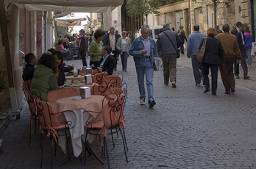
<path fill-rule="evenodd" d="M 127 4 L 127 15 L 129 17 L 143 18 L 146 16 L 146 23 L 148 22 L 149 14 L 159 14 L 160 4 L 157 0 L 133 0 Z"/>

